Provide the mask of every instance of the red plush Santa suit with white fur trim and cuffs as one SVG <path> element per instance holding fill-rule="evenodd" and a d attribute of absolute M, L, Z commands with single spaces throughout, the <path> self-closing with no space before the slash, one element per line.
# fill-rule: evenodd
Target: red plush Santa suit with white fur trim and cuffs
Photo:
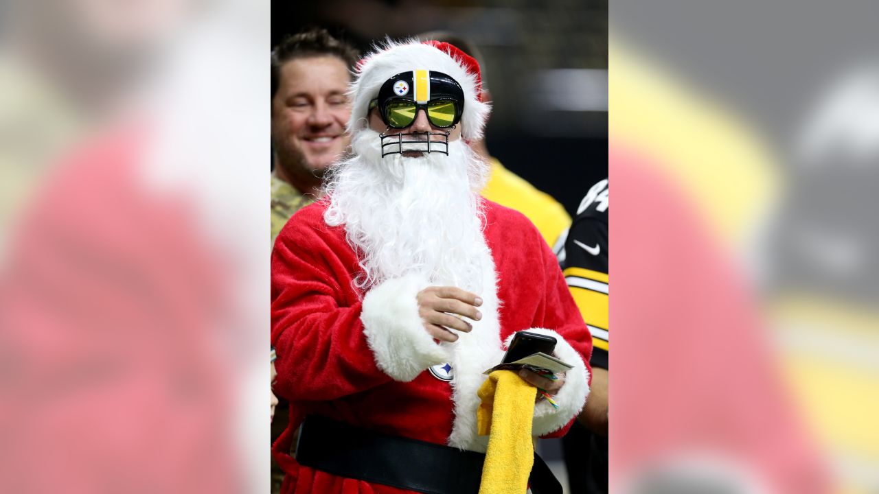
<path fill-rule="evenodd" d="M 418 275 L 368 289 L 343 226 L 323 220 L 326 202 L 301 209 L 272 252 L 275 390 L 290 400 L 290 426 L 273 447 L 287 472 L 282 492 L 405 492 L 309 469 L 290 456 L 302 419 L 316 414 L 369 430 L 484 452 L 476 434 L 476 390 L 515 331 L 557 338 L 556 356 L 575 365 L 556 395 L 534 406 L 534 435 L 567 432 L 585 403 L 592 341 L 552 251 L 525 216 L 485 200 L 483 314 L 454 343 L 437 343 L 418 316 Z M 340 445 L 344 447 L 344 445 Z"/>

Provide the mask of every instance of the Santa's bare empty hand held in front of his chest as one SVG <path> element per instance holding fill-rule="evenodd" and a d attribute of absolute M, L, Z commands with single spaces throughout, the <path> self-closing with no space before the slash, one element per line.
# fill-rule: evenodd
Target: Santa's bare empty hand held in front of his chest
<path fill-rule="evenodd" d="M 449 331 L 470 332 L 473 326 L 459 316 L 469 317 L 474 321 L 483 318 L 476 310 L 483 304 L 483 299 L 456 287 L 426 287 L 418 292 L 418 316 L 425 324 L 425 330 L 433 338 L 441 341 L 455 341 L 458 335 Z M 454 316 L 457 315 L 457 316 Z"/>

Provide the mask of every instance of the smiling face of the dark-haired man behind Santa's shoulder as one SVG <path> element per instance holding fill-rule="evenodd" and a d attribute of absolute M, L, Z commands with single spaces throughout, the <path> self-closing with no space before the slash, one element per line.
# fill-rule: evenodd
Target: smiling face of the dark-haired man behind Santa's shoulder
<path fill-rule="evenodd" d="M 324 171 L 350 143 L 351 76 L 335 56 L 297 58 L 280 70 L 272 98 L 272 144 L 288 175 Z"/>

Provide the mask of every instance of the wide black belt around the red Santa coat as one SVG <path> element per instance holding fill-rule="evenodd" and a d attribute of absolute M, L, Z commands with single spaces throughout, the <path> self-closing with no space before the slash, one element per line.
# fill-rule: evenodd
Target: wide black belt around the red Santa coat
<path fill-rule="evenodd" d="M 478 494 L 485 454 L 309 416 L 299 430 L 296 461 L 335 476 L 425 494 Z M 562 494 L 562 485 L 536 453 L 528 482 L 534 494 Z"/>

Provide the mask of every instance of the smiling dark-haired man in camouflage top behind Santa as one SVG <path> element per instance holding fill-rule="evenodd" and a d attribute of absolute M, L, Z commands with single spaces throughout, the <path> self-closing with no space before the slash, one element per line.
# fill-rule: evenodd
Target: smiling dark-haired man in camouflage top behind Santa
<path fill-rule="evenodd" d="M 272 243 L 290 216 L 316 199 L 324 171 L 348 149 L 345 93 L 356 60 L 356 50 L 323 29 L 272 50 Z"/>

